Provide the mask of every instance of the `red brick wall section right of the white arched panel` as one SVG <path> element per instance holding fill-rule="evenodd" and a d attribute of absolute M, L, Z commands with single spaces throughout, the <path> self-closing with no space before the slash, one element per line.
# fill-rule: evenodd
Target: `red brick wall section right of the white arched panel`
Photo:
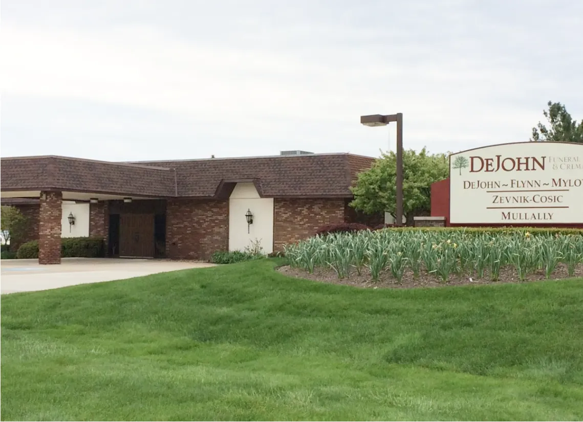
<path fill-rule="evenodd" d="M 345 221 L 343 198 L 293 198 L 273 201 L 273 250 L 314 235 L 325 224 Z"/>

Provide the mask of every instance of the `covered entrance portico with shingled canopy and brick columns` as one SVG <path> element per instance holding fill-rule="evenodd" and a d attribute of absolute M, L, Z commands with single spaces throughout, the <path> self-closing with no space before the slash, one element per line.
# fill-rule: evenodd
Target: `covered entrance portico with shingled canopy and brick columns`
<path fill-rule="evenodd" d="M 80 236 L 103 239 L 107 256 L 164 256 L 166 198 L 174 191 L 168 168 L 64 157 L 2 159 L 2 205 L 26 204 L 29 233 L 19 241 L 38 240 L 40 264 L 61 263 L 61 238 L 71 220 L 82 223 L 76 219 L 88 220 Z M 64 215 L 71 204 L 86 204 L 87 213 Z"/>

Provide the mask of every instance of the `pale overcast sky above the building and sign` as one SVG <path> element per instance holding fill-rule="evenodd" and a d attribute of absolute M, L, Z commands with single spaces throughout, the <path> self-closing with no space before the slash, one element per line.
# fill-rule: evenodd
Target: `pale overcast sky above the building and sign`
<path fill-rule="evenodd" d="M 1 154 L 378 156 L 583 118 L 583 2 L 2 0 Z"/>

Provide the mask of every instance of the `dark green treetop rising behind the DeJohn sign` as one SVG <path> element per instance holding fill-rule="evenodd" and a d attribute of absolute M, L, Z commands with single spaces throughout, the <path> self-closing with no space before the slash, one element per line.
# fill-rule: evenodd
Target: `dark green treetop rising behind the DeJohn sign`
<path fill-rule="evenodd" d="M 544 110 L 549 127 L 541 122 L 532 128 L 531 142 L 576 142 L 583 143 L 583 121 L 577 124 L 561 103 L 547 103 L 549 110 Z"/>

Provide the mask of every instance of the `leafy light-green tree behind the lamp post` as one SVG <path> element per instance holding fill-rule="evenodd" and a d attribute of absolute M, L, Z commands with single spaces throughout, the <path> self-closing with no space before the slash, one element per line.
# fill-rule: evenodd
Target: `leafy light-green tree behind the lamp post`
<path fill-rule="evenodd" d="M 446 154 L 429 154 L 423 148 L 403 151 L 403 214 L 408 225 L 413 217 L 431 210 L 431 184 L 448 177 Z M 350 205 L 366 213 L 396 212 L 396 155 L 383 153 L 373 167 L 360 173 L 352 188 Z"/>

